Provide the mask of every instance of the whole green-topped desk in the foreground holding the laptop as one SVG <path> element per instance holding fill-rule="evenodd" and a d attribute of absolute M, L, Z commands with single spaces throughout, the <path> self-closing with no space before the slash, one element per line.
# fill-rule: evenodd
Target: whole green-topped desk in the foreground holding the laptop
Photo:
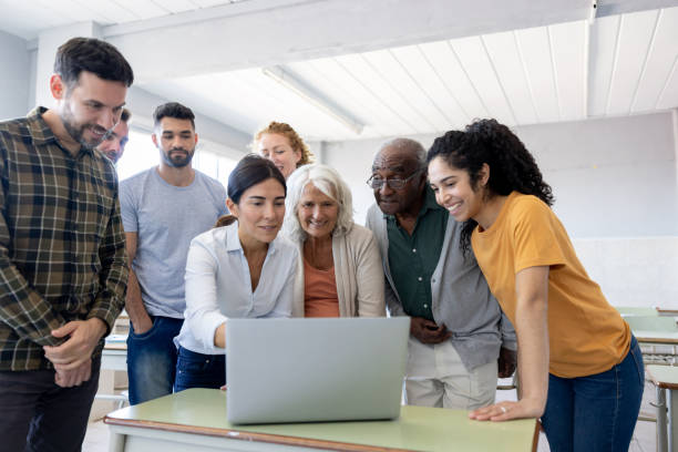
<path fill-rule="evenodd" d="M 110 452 L 532 451 L 534 419 L 477 422 L 466 411 L 402 407 L 394 421 L 232 425 L 226 392 L 188 389 L 110 413 Z"/>

